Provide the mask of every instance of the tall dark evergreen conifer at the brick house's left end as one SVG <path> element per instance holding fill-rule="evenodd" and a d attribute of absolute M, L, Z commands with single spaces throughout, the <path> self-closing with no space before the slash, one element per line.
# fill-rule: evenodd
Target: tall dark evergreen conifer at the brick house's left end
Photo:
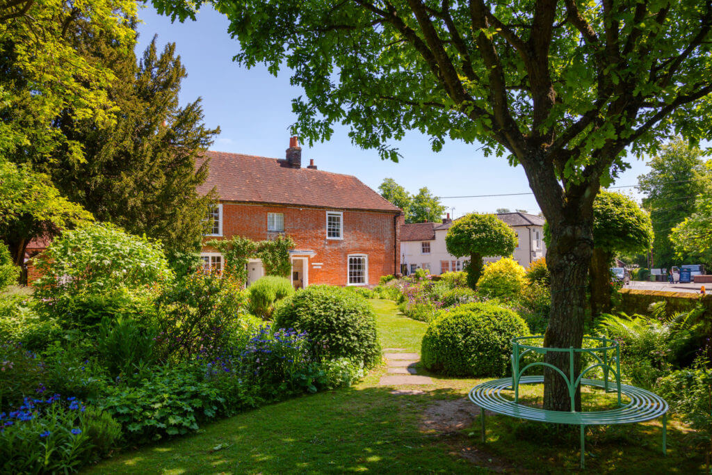
<path fill-rule="evenodd" d="M 207 174 L 196 159 L 219 128 L 204 125 L 200 99 L 179 106 L 187 74 L 174 43 L 159 54 L 153 38 L 138 63 L 135 55 L 115 55 L 113 46 L 100 36 L 81 41 L 82 48 L 109 58 L 116 80 L 108 94 L 120 110 L 116 122 L 64 115 L 60 127 L 83 145 L 85 160 L 59 156 L 49 171 L 58 188 L 96 219 L 161 239 L 171 252 L 195 251 L 214 202 L 196 191 Z"/>

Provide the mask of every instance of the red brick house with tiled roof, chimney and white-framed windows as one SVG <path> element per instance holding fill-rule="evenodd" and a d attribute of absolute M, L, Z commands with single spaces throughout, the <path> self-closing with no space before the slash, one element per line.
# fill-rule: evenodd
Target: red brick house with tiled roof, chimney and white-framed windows
<path fill-rule="evenodd" d="M 401 209 L 356 177 L 301 166 L 291 137 L 285 159 L 206 152 L 209 177 L 199 192 L 215 189 L 210 239 L 244 236 L 255 241 L 287 234 L 295 287 L 312 284 L 373 286 L 400 268 Z M 222 256 L 204 246 L 207 268 Z M 248 264 L 248 283 L 263 276 L 258 259 Z"/>

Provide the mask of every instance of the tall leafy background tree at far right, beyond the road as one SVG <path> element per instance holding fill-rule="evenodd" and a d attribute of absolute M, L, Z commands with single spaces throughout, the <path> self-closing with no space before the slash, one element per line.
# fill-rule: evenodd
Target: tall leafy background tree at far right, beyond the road
<path fill-rule="evenodd" d="M 679 138 L 664 145 L 648 166 L 650 172 L 640 175 L 638 184 L 646 194 L 643 207 L 650 212 L 655 234 L 653 261 L 656 267 L 669 268 L 680 262 L 670 239 L 671 229 L 695 212 L 691 198 L 703 192 L 703 177 L 709 177 L 710 171 L 703 167 L 702 151 Z"/>

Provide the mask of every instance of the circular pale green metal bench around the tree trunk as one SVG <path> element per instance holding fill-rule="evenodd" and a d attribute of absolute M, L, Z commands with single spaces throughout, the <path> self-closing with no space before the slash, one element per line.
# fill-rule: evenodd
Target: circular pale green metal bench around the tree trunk
<path fill-rule="evenodd" d="M 477 385 L 470 391 L 470 400 L 480 407 L 480 419 L 482 426 L 482 442 L 485 442 L 485 410 L 496 412 L 520 419 L 528 419 L 538 422 L 550 422 L 553 424 L 571 424 L 580 427 L 581 434 L 581 468 L 585 468 L 585 429 L 590 425 L 610 425 L 610 424 L 630 424 L 634 422 L 645 422 L 651 419 L 663 418 L 662 449 L 666 450 L 667 431 L 667 411 L 669 406 L 661 397 L 654 395 L 639 387 L 624 385 L 620 381 L 620 349 L 618 342 L 604 337 L 586 337 L 590 343 L 598 344 L 597 348 L 543 348 L 540 345 L 531 343 L 543 340 L 543 336 L 530 336 L 514 338 L 512 340 L 512 377 L 505 377 L 499 380 L 491 380 Z M 543 361 L 534 361 L 520 368 L 523 357 L 526 355 L 545 355 L 549 351 L 569 353 L 570 371 L 569 375 L 557 367 Z M 574 372 L 574 356 L 582 353 L 592 357 L 594 363 L 585 368 L 579 375 Z M 571 399 L 570 411 L 548 411 L 519 404 L 519 385 L 542 384 L 544 377 L 541 375 L 524 376 L 523 373 L 531 367 L 544 366 L 551 367 L 557 371 L 565 380 Z M 592 380 L 586 378 L 587 373 L 600 367 L 603 372 L 603 380 Z M 614 382 L 609 381 L 609 375 L 613 374 Z M 599 387 L 606 392 L 617 392 L 617 409 L 592 412 L 575 411 L 575 394 L 578 385 Z M 611 386 L 615 389 L 612 390 Z M 514 400 L 508 399 L 503 394 L 504 391 L 514 392 Z M 628 402 L 622 400 L 622 396 Z"/>

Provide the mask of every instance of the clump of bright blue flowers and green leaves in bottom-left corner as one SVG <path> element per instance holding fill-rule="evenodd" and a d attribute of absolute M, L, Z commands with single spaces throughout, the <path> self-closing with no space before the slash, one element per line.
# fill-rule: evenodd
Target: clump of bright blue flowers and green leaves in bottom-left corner
<path fill-rule="evenodd" d="M 19 408 L 33 415 L 9 421 L 14 424 L 0 431 L 0 471 L 69 473 L 108 454 L 119 439 L 119 424 L 109 414 L 70 399 L 68 407 L 50 397 Z"/>

